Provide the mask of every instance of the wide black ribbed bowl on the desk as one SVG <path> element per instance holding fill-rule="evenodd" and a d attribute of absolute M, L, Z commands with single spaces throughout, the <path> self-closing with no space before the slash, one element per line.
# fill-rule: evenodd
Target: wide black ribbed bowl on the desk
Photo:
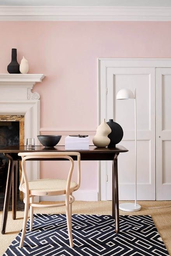
<path fill-rule="evenodd" d="M 56 146 L 61 137 L 61 135 L 37 135 L 38 140 L 44 147 Z"/>

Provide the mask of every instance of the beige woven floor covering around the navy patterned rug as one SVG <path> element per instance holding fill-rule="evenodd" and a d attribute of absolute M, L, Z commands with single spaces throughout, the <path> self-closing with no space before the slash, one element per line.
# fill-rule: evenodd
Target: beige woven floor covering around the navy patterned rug
<path fill-rule="evenodd" d="M 44 202 L 42 202 L 44 203 Z M 151 215 L 157 230 L 159 231 L 169 254 L 171 255 L 171 207 L 161 209 L 145 209 L 143 207 L 169 206 L 171 201 L 138 201 L 142 209 L 138 212 L 122 212 L 120 215 Z M 105 214 L 112 213 L 111 201 L 85 202 L 76 201 L 73 203 L 73 214 Z M 65 213 L 65 207 L 37 208 L 35 213 Z M 24 212 L 17 212 L 17 219 L 12 220 L 12 212 L 9 212 L 7 219 L 7 228 L 5 235 L 0 234 L 0 255 L 2 255 L 12 240 L 16 237 L 22 228 Z M 0 212 L 0 223 L 2 221 L 2 212 Z"/>

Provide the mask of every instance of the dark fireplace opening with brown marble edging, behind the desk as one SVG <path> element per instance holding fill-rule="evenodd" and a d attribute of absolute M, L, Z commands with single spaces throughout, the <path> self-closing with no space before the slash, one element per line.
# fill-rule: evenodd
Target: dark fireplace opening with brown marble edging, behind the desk
<path fill-rule="evenodd" d="M 3 116 L 4 117 L 4 116 Z M 5 118 L 0 117 L 0 119 L 5 119 L 5 121 L 0 121 L 0 148 L 6 146 L 19 146 L 21 141 L 24 140 L 23 133 L 23 116 L 19 118 L 19 121 L 15 120 L 15 116 L 5 116 Z M 19 116 L 17 116 L 19 117 Z M 9 121 L 12 120 L 12 121 Z M 23 137 L 23 138 L 21 138 Z M 0 154 L 0 210 L 3 210 L 3 201 L 5 196 L 5 186 L 7 181 L 7 170 L 8 170 L 8 158 L 3 154 Z M 18 170 L 20 169 L 18 163 Z M 17 188 L 19 188 L 19 176 L 17 175 Z M 19 189 L 17 190 L 17 210 L 24 209 L 24 203 L 20 194 Z M 20 199 L 22 201 L 20 201 Z M 12 195 L 10 198 L 9 210 L 12 209 Z"/>

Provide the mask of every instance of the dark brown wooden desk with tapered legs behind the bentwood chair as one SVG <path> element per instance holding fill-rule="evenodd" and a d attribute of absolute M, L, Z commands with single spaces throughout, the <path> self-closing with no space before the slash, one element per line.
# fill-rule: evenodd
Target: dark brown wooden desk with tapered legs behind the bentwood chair
<path fill-rule="evenodd" d="M 0 153 L 5 154 L 9 159 L 9 167 L 7 174 L 7 183 L 5 188 L 5 198 L 3 204 L 3 217 L 1 233 L 5 233 L 5 227 L 8 216 L 10 193 L 12 188 L 12 218 L 16 219 L 16 201 L 17 201 L 17 161 L 21 160 L 18 156 L 19 152 L 63 152 L 75 151 L 81 155 L 81 160 L 111 160 L 113 162 L 112 171 L 112 217 L 115 219 L 115 231 L 119 232 L 119 200 L 118 200 L 118 168 L 117 157 L 119 153 L 127 152 L 125 147 L 118 146 L 115 148 L 89 146 L 89 150 L 65 150 L 65 146 L 56 146 L 53 148 L 45 148 L 43 146 L 35 146 L 34 150 L 26 149 L 26 146 L 9 146 L 0 149 Z M 73 157 L 74 159 L 74 157 Z"/>

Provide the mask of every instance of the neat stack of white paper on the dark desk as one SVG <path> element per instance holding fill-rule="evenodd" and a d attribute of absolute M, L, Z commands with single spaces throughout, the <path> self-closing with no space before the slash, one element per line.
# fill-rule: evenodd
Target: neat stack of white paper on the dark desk
<path fill-rule="evenodd" d="M 65 138 L 65 149 L 89 149 L 89 136 L 87 137 L 72 137 L 66 136 Z"/>

